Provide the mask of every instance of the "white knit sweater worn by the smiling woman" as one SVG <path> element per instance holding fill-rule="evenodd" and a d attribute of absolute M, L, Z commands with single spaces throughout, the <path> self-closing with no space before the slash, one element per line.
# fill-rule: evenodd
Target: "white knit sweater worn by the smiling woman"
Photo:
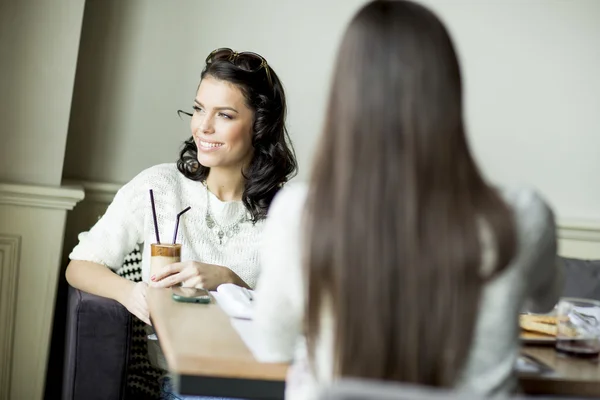
<path fill-rule="evenodd" d="M 246 212 L 241 201 L 222 202 L 206 187 L 177 170 L 175 164 L 146 169 L 123 186 L 102 218 L 89 232 L 79 236 L 79 244 L 69 257 L 92 261 L 117 270 L 135 244 L 156 243 L 149 190 L 154 192 L 160 240 L 171 243 L 177 213 L 191 206 L 179 222 L 177 242 L 182 244 L 181 260 L 222 265 L 254 287 L 259 272 L 259 246 L 264 222 L 245 221 L 233 237 L 219 244 L 216 228 L 206 224 L 207 198 L 216 222 L 226 227 Z M 148 281 L 150 246 L 143 246 L 142 278 Z"/>

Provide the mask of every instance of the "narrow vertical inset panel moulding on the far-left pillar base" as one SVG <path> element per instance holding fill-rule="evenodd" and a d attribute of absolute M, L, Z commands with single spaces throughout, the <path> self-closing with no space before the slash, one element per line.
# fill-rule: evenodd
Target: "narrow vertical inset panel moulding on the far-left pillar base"
<path fill-rule="evenodd" d="M 10 396 L 21 236 L 0 235 L 0 399 Z"/>

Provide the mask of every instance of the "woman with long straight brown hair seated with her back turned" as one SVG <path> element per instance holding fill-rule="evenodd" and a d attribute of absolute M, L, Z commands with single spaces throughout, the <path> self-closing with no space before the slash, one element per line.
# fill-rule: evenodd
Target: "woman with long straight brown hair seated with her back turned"
<path fill-rule="evenodd" d="M 554 219 L 534 191 L 484 180 L 431 11 L 358 12 L 317 143 L 309 185 L 273 203 L 256 295 L 262 356 L 294 360 L 288 396 L 336 377 L 514 390 L 518 313 L 558 299 Z"/>

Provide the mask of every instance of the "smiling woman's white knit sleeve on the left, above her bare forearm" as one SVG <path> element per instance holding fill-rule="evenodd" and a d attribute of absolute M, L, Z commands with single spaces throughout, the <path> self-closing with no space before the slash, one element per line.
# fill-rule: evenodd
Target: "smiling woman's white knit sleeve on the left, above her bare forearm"
<path fill-rule="evenodd" d="M 148 171 L 123 186 L 89 232 L 79 234 L 79 243 L 69 254 L 71 260 L 91 261 L 116 271 L 135 245 L 143 242 L 144 210 L 150 202 L 145 190 Z"/>

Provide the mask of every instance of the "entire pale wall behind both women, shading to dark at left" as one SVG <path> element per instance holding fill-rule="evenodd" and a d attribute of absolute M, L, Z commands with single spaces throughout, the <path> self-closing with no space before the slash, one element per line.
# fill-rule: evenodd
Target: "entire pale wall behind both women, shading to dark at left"
<path fill-rule="evenodd" d="M 65 177 L 122 183 L 174 161 L 189 136 L 175 110 L 189 108 L 207 53 L 232 47 L 282 78 L 306 178 L 337 44 L 364 3 L 88 0 Z M 486 174 L 537 186 L 559 217 L 600 220 L 600 1 L 423 3 L 454 35 Z"/>

